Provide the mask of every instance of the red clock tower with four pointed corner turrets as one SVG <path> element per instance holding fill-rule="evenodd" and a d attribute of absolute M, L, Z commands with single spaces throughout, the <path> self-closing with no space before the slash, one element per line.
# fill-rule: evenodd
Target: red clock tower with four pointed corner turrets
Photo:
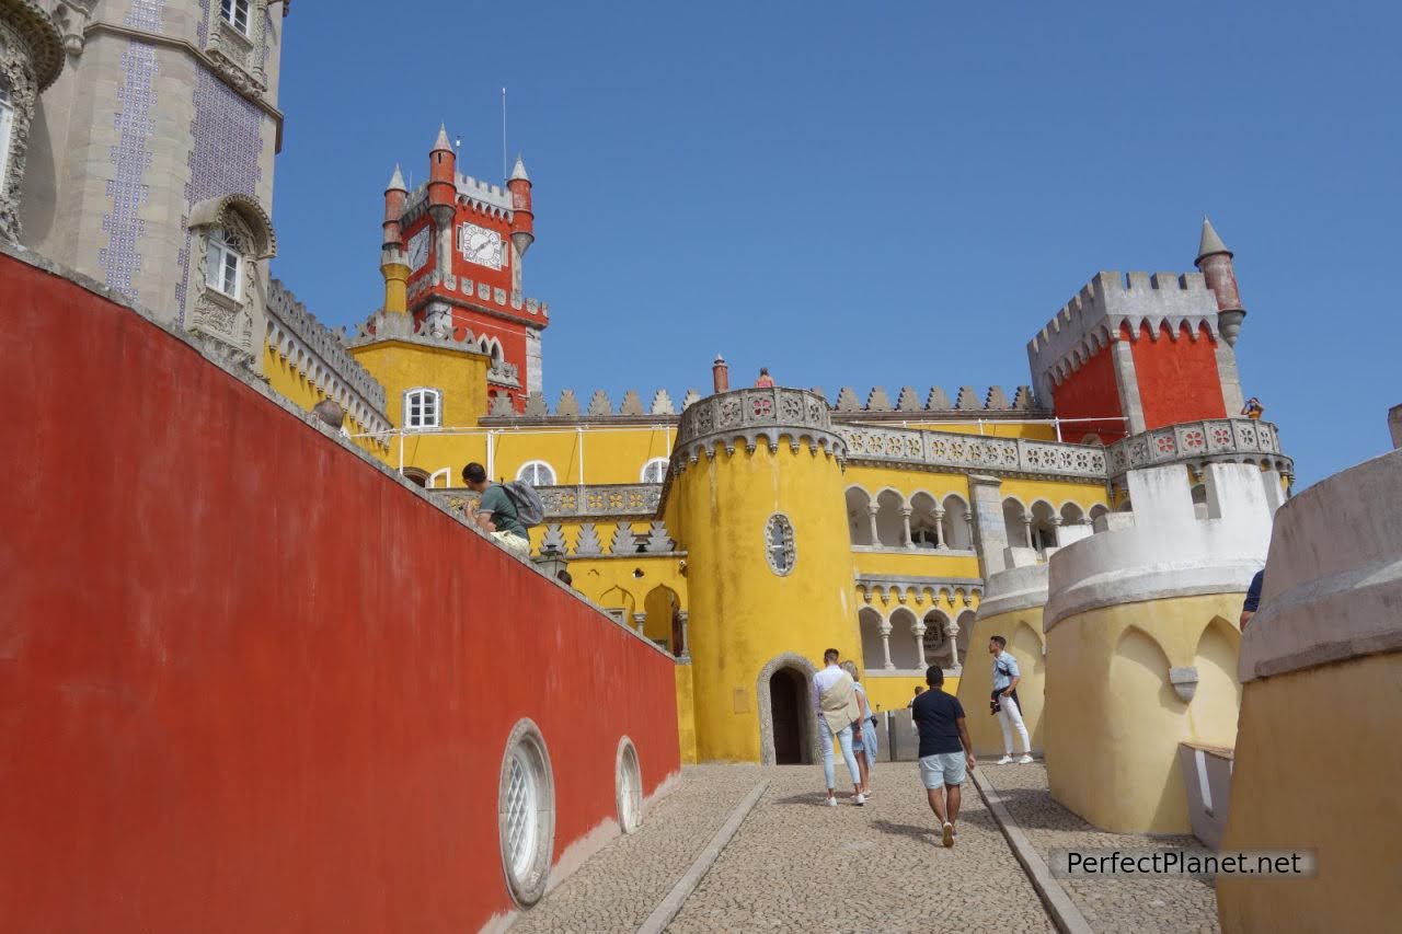
<path fill-rule="evenodd" d="M 429 181 L 407 194 L 397 188 L 402 181 L 391 182 L 384 248 L 402 259 L 381 264 L 384 307 L 430 334 L 475 342 L 492 358 L 488 395 L 522 412 L 543 388 L 541 332 L 550 325 L 548 307 L 522 290 L 522 259 L 536 241 L 530 175 L 517 157 L 505 187 L 494 185 L 458 172 L 457 158 L 440 128 Z"/>

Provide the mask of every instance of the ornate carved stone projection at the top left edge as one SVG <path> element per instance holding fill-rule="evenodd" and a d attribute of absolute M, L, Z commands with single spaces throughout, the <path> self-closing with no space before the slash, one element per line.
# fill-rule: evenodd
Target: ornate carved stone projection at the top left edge
<path fill-rule="evenodd" d="M 63 70 L 63 38 L 35 0 L 0 0 L 0 112 L 10 121 L 0 153 L 0 240 L 20 240 L 20 191 L 39 94 Z"/>

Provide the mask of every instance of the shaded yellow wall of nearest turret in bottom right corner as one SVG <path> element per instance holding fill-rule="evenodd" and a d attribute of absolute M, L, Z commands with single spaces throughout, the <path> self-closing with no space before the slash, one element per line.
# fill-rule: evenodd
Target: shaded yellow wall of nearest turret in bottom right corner
<path fill-rule="evenodd" d="M 1364 931 L 1395 916 L 1399 684 L 1398 652 L 1246 684 L 1223 848 L 1315 850 L 1319 874 L 1218 878 L 1224 931 Z"/>

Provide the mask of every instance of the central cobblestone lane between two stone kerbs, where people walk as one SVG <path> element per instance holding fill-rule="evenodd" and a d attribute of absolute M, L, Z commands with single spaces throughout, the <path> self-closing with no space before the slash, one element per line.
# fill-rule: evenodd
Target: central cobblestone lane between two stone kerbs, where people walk
<path fill-rule="evenodd" d="M 669 931 L 1054 930 L 972 781 L 945 850 L 916 763 L 878 766 L 865 808 L 823 806 L 816 766 L 763 774 L 768 791 Z"/>

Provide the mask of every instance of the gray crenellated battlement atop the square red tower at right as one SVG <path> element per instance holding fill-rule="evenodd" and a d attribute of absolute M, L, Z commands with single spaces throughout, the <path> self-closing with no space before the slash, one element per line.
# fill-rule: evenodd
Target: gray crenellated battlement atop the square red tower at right
<path fill-rule="evenodd" d="M 1116 337 L 1217 341 L 1217 296 L 1200 272 L 1098 272 L 1028 342 L 1037 395 Z"/>

